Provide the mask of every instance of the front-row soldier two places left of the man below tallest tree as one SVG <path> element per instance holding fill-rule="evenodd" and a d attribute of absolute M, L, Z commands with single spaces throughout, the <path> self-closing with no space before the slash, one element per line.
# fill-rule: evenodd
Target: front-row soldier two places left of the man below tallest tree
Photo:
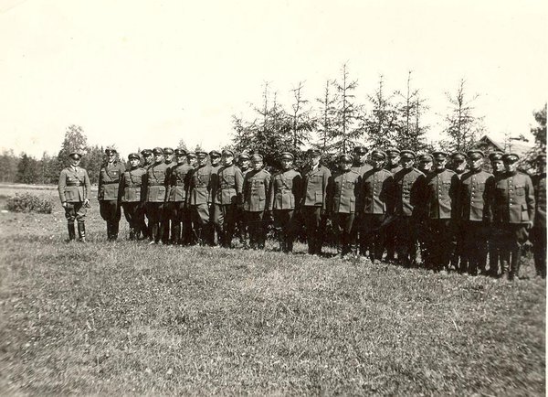
<path fill-rule="evenodd" d="M 282 252 L 293 251 L 297 234 L 296 212 L 302 197 L 302 177 L 293 169 L 294 157 L 290 152 L 280 156 L 281 170 L 271 178 L 268 210 L 274 218 L 274 228 L 279 231 Z"/>

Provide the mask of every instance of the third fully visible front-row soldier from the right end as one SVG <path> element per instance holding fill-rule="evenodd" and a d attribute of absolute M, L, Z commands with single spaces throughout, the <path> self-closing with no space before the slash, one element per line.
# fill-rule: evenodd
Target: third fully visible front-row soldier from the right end
<path fill-rule="evenodd" d="M 455 252 L 455 220 L 458 205 L 458 176 L 446 168 L 447 153 L 434 152 L 434 169 L 427 174 L 427 258 L 429 268 L 447 271 Z"/>

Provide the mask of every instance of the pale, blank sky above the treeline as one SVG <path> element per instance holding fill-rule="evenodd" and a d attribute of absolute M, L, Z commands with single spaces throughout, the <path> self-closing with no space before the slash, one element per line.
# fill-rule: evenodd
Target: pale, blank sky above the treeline
<path fill-rule="evenodd" d="M 269 81 L 311 102 L 347 63 L 367 102 L 412 85 L 430 107 L 467 81 L 491 136 L 529 134 L 548 92 L 548 2 L 0 0 L 0 148 L 56 155 L 69 124 L 90 145 L 230 143 Z"/>

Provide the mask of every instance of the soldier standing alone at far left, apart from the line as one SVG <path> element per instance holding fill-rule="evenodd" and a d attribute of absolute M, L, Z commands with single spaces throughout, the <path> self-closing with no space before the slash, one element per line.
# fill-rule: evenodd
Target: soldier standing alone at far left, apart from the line
<path fill-rule="evenodd" d="M 69 166 L 61 171 L 58 182 L 59 199 L 67 218 L 68 241 L 76 239 L 74 220 L 78 222 L 79 241 L 86 241 L 86 212 L 90 206 L 90 177 L 79 162 L 82 156 L 77 152 L 68 155 Z"/>

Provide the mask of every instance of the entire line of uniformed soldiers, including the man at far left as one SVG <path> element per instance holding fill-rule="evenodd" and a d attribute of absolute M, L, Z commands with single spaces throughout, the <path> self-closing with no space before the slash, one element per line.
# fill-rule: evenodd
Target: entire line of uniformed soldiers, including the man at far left
<path fill-rule="evenodd" d="M 130 154 L 126 167 L 109 147 L 98 192 L 107 239 L 118 239 L 123 209 L 130 240 L 231 248 L 237 238 L 264 249 L 273 224 L 281 252 L 304 234 L 308 252 L 320 255 L 331 222 L 342 256 L 512 280 L 531 241 L 536 273 L 546 276 L 545 155 L 532 177 L 517 169 L 514 153 L 417 156 L 356 146 L 333 170 L 318 150 L 306 157 L 297 170 L 284 152 L 270 173 L 259 154 L 156 147 Z M 69 241 L 77 238 L 75 220 L 86 240 L 90 178 L 80 158 L 70 154 L 58 183 Z"/>

